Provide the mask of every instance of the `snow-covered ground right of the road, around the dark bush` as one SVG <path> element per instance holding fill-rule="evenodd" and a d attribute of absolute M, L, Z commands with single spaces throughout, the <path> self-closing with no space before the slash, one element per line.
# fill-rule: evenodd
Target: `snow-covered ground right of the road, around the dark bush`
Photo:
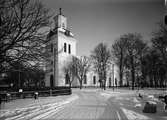
<path fill-rule="evenodd" d="M 128 118 L 128 120 L 150 120 L 150 119 L 166 119 L 167 115 L 163 108 L 163 103 L 158 99 L 159 95 L 164 94 L 163 90 L 106 90 L 101 91 L 100 95 L 104 99 L 111 101 L 115 105 L 119 105 L 120 110 Z M 139 95 L 140 94 L 140 95 Z M 111 98 L 111 99 L 110 99 Z M 146 102 L 157 106 L 157 112 L 154 114 L 143 113 Z"/>

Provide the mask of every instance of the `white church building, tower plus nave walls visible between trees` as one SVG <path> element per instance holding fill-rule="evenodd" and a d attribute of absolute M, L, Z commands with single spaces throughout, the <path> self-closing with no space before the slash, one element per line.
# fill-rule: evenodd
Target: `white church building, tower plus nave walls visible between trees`
<path fill-rule="evenodd" d="M 76 56 L 77 40 L 73 33 L 67 27 L 67 18 L 62 14 L 61 8 L 59 14 L 54 18 L 54 28 L 47 35 L 46 52 L 48 61 L 45 65 L 45 86 L 68 86 L 65 80 L 64 66 L 71 60 L 72 56 Z M 114 65 L 115 66 L 115 65 Z M 107 73 L 107 86 L 116 84 L 118 79 L 117 67 L 111 66 Z M 118 81 L 117 81 L 118 83 Z M 72 83 L 73 87 L 78 87 L 79 82 L 76 80 Z M 86 75 L 83 81 L 83 86 L 99 86 L 98 75 L 92 70 Z"/>

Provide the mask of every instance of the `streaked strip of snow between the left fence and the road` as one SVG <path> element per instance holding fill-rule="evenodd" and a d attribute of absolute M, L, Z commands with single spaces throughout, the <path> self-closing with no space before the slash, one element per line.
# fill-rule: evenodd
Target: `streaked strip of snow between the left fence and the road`
<path fill-rule="evenodd" d="M 8 109 L 1 111 L 1 117 L 8 117 L 6 120 L 38 120 L 47 117 L 50 114 L 55 114 L 58 110 L 63 108 L 65 105 L 75 101 L 79 97 L 77 95 L 72 95 L 71 97 L 61 100 L 59 102 L 49 102 L 47 101 L 46 104 L 40 103 L 37 101 L 38 104 L 31 104 L 30 106 L 26 106 L 25 108 L 16 108 L 16 109 Z M 47 99 L 49 100 L 49 99 Z"/>

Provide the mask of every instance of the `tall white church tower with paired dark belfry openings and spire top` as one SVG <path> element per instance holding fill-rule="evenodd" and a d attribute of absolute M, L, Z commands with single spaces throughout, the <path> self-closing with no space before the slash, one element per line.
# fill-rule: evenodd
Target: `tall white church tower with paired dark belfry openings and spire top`
<path fill-rule="evenodd" d="M 76 56 L 76 39 L 67 27 L 67 18 L 62 14 L 61 8 L 53 19 L 54 29 L 50 30 L 47 36 L 46 52 L 49 57 L 46 63 L 45 85 L 67 86 L 63 68 L 72 56 Z"/>

